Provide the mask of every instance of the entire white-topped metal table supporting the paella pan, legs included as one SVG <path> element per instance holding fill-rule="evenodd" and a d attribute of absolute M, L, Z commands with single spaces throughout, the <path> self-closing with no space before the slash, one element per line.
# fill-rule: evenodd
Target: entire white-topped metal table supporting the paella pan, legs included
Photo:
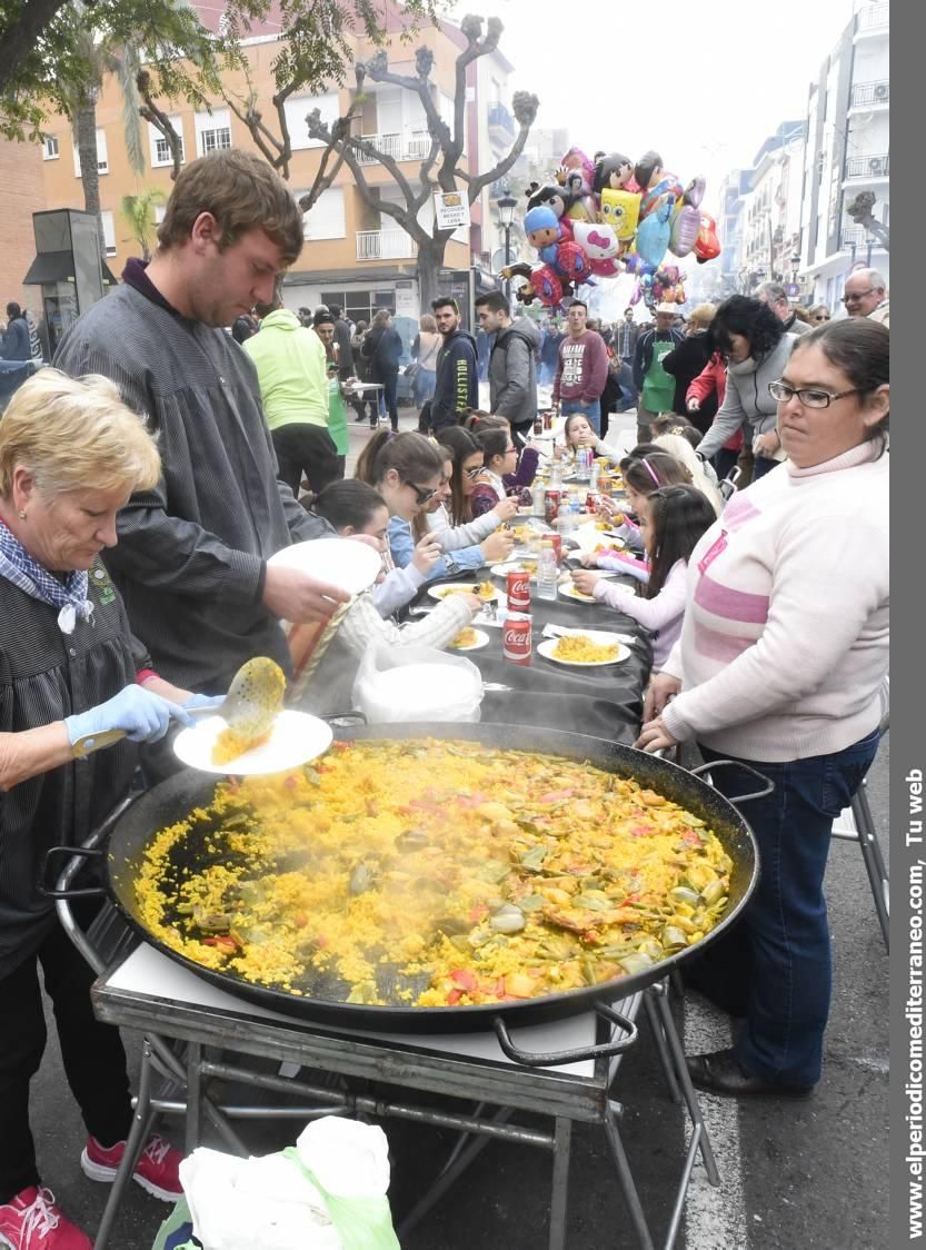
<path fill-rule="evenodd" d="M 59 889 L 71 885 L 81 862 L 76 856 L 67 862 Z M 146 944 L 136 944 L 126 954 L 125 938 L 131 935 L 109 904 L 87 934 L 77 928 L 66 901 L 59 901 L 57 910 L 71 940 L 101 974 L 92 990 L 99 1019 L 144 1034 L 132 1128 L 96 1235 L 96 1250 L 106 1250 L 109 1245 L 125 1186 L 160 1114 L 184 1116 L 186 1152 L 199 1144 L 204 1119 L 220 1134 L 226 1148 L 240 1155 L 249 1151 L 229 1122 L 235 1119 L 365 1115 L 456 1130 L 457 1139 L 442 1171 L 405 1218 L 400 1236 L 440 1201 L 490 1141 L 500 1139 L 541 1148 L 552 1155 L 550 1250 L 565 1250 L 566 1245 L 572 1124 L 600 1124 L 639 1245 L 642 1250 L 655 1250 L 621 1140 L 624 1108 L 610 1098 L 621 1056 L 637 1040 L 635 1021 L 641 1008 L 669 1094 L 675 1101 L 684 1100 L 692 1125 L 675 1184 L 665 1250 L 675 1244 L 699 1151 L 707 1179 L 714 1185 L 720 1184 L 665 981 L 614 1008 L 600 1006 L 596 1012 L 549 1026 L 519 1029 L 516 1040 L 504 1029 L 497 1038 L 494 1034 L 415 1038 L 339 1031 L 237 999 Z M 529 1042 L 536 1046 L 539 1040 L 544 1044 L 540 1054 L 521 1049 Z M 551 1045 L 557 1052 L 551 1052 Z M 229 1052 L 234 1055 L 231 1062 L 224 1061 Z M 304 1068 L 314 1070 L 310 1075 L 315 1075 L 316 1082 L 255 1071 L 247 1066 L 249 1059 L 271 1059 L 289 1065 L 285 1070 L 292 1072 Z M 331 1084 L 319 1079 L 317 1070 L 330 1074 Z M 256 1101 L 219 1102 L 209 1095 L 211 1080 L 277 1092 L 281 1100 L 276 1106 Z M 417 1090 L 462 1099 L 471 1102 L 472 1109 L 460 1111 L 454 1105 L 440 1110 L 404 1098 L 384 1099 L 376 1096 L 375 1089 L 369 1091 L 366 1082 L 370 1081 L 410 1092 Z M 517 1112 L 547 1116 L 552 1126 L 542 1131 L 520 1125 Z"/>

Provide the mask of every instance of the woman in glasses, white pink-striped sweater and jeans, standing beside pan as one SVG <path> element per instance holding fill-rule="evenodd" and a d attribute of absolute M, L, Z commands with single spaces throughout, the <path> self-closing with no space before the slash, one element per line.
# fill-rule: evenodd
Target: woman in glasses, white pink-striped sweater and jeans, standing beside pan
<path fill-rule="evenodd" d="M 689 1060 L 716 1094 L 806 1098 L 821 1075 L 824 872 L 877 751 L 889 662 L 889 379 L 890 331 L 869 319 L 797 340 L 769 384 L 787 460 L 695 548 L 681 640 L 646 695 L 644 750 L 696 741 L 775 784 L 747 808 L 761 876 L 742 922 L 691 961 L 692 982 L 746 1020 L 732 1049 Z M 714 781 L 755 790 L 744 776 Z"/>

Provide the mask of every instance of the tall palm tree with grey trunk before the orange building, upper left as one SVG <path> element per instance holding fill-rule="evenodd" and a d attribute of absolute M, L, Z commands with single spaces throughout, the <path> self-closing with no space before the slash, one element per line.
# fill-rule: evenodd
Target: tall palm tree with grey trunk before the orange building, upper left
<path fill-rule="evenodd" d="M 74 0 L 74 19 L 81 44 L 81 56 L 92 65 L 87 80 L 71 94 L 67 116 L 74 130 L 74 139 L 80 160 L 80 181 L 84 186 L 84 208 L 95 212 L 100 232 L 100 255 L 105 258 L 106 244 L 102 236 L 102 216 L 100 214 L 100 171 L 96 164 L 96 102 L 102 90 L 102 79 L 112 74 L 122 94 L 122 125 L 125 128 L 125 150 L 129 164 L 135 174 L 145 172 L 145 151 L 141 138 L 141 99 L 135 78 L 141 69 L 137 49 L 132 45 L 112 48 L 104 40 L 97 40 L 92 31 L 92 18 L 82 0 Z"/>

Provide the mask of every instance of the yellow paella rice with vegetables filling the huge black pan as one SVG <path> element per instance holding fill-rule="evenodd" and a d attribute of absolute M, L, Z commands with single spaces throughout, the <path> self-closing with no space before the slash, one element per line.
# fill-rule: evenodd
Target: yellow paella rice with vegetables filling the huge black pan
<path fill-rule="evenodd" d="M 694 945 L 722 918 L 731 868 L 696 815 L 586 762 L 380 740 L 220 782 L 154 836 L 136 901 L 155 938 L 232 978 L 465 1006 Z"/>

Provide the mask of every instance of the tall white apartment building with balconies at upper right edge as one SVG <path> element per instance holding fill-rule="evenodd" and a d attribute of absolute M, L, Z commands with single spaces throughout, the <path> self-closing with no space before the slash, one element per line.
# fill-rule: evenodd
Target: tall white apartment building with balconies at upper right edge
<path fill-rule="evenodd" d="M 890 225 L 890 21 L 887 4 L 861 4 L 810 85 L 801 268 L 814 300 L 831 309 L 854 268 L 890 279 L 890 254 L 846 212 L 870 191 L 875 218 Z"/>

